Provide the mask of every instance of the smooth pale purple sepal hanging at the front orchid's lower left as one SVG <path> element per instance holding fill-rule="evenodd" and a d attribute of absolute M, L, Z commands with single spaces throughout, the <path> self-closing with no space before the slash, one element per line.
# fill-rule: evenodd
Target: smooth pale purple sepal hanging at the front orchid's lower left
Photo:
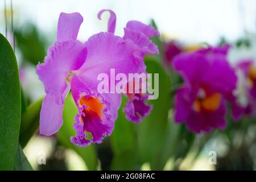
<path fill-rule="evenodd" d="M 39 133 L 42 135 L 55 134 L 63 123 L 63 104 L 56 104 L 55 97 L 46 95 L 40 111 Z"/>

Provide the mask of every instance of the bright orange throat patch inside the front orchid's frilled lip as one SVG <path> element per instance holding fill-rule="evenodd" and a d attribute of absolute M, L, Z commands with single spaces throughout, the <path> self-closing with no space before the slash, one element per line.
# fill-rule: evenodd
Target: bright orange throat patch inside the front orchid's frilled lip
<path fill-rule="evenodd" d="M 104 105 L 101 104 L 100 98 L 95 98 L 95 97 L 82 97 L 79 100 L 79 104 L 88 106 L 88 108 L 85 109 L 86 112 L 90 111 L 93 113 L 96 113 L 99 117 L 102 117 L 103 113 L 103 108 Z"/>

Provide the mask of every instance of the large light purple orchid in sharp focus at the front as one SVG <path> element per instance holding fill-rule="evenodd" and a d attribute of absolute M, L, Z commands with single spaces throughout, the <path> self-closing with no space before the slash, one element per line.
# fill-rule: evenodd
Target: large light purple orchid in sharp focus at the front
<path fill-rule="evenodd" d="M 88 146 L 91 142 L 101 143 L 110 135 L 117 119 L 121 104 L 121 95 L 117 93 L 97 92 L 100 73 L 143 73 L 146 66 L 143 62 L 148 49 L 156 51 L 146 38 L 152 36 L 151 29 L 140 22 L 131 23 L 130 33 L 141 38 L 121 38 L 115 36 L 115 14 L 111 10 L 108 32 L 92 35 L 85 43 L 77 40 L 80 25 L 83 21 L 79 13 L 61 13 L 57 26 L 57 41 L 49 47 L 43 64 L 39 64 L 36 73 L 43 82 L 46 97 L 40 111 L 40 134 L 52 135 L 63 123 L 63 106 L 65 97 L 71 89 L 79 114 L 73 124 L 76 136 L 71 142 L 77 146 Z M 129 23 L 130 24 L 130 23 Z M 144 28 L 144 29 L 143 29 Z M 127 29 L 128 30 L 128 29 Z M 147 35 L 147 37 L 146 37 Z M 154 33 L 155 35 L 155 33 Z M 143 42 L 136 42 L 141 41 Z M 137 107 L 135 107 L 137 108 Z M 88 138 L 88 133 L 92 138 Z"/>

